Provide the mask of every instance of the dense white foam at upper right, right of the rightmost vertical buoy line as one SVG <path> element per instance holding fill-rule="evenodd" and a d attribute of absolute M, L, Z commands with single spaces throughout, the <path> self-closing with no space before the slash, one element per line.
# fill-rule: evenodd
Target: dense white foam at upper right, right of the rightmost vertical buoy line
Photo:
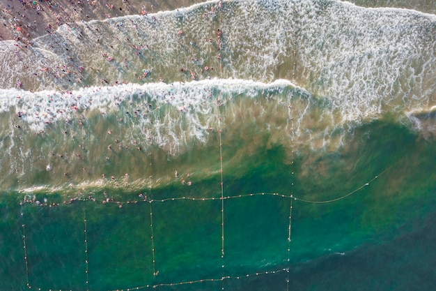
<path fill-rule="evenodd" d="M 345 105 L 349 120 L 431 101 L 434 15 L 326 3 L 299 8 L 297 38 L 310 39 L 299 54 L 306 89 Z"/>

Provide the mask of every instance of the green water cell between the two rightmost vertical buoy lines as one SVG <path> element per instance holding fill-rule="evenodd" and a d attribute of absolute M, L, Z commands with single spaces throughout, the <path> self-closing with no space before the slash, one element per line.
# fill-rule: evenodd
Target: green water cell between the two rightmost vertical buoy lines
<path fill-rule="evenodd" d="M 268 269 L 286 261 L 288 201 L 269 196 L 226 200 L 224 223 L 227 274 L 240 276 L 249 274 L 253 269 Z"/>

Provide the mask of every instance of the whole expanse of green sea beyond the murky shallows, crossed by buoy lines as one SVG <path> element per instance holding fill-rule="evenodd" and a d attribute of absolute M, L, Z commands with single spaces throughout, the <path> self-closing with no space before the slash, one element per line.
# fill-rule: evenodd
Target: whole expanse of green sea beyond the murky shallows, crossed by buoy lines
<path fill-rule="evenodd" d="M 235 143 L 238 147 L 243 145 L 241 141 Z M 431 236 L 432 225 L 427 221 L 433 219 L 436 207 L 434 141 L 424 140 L 403 126 L 377 121 L 359 128 L 350 144 L 350 149 L 339 149 L 332 154 L 309 152 L 295 156 L 294 163 L 289 163 L 280 144 L 270 148 L 259 144 L 256 151 L 244 156 L 244 163 L 224 167 L 226 195 L 258 192 L 290 195 L 293 189 L 296 197 L 311 200 L 329 200 L 353 191 L 388 169 L 344 200 L 329 204 L 293 202 L 290 262 L 287 262 L 289 198 L 249 196 L 225 200 L 226 276 L 286 267 L 290 268 L 292 290 L 295 290 L 293 284 L 297 290 L 321 290 L 326 282 L 332 284 L 328 274 L 334 269 L 343 273 L 335 272 L 334 276 L 345 276 L 351 285 L 357 280 L 353 276 L 357 276 L 354 272 L 359 269 L 371 273 L 384 264 L 390 270 L 393 261 L 381 260 L 377 255 L 389 255 L 389 252 L 395 255 L 403 250 L 410 254 L 402 257 L 400 263 L 405 266 L 434 258 L 433 240 L 421 233 Z M 231 147 L 224 147 L 224 158 L 231 152 Z M 216 165 L 219 156 L 213 158 Z M 238 166 L 242 167 L 242 176 L 232 174 L 232 169 Z M 144 188 L 142 192 L 150 198 L 219 197 L 220 179 L 218 174 L 211 174 L 190 187 L 177 181 L 164 187 Z M 130 200 L 138 198 L 137 191 L 117 194 Z M 138 202 L 120 208 L 118 204 L 102 204 L 101 190 L 95 191 L 95 202 L 77 201 L 59 207 L 20 205 L 20 197 L 12 192 L 3 193 L 1 199 L 1 255 L 2 262 L 7 264 L 3 268 L 8 270 L 1 278 L 2 289 L 26 289 L 24 229 L 31 286 L 42 290 L 86 290 L 85 216 L 90 290 L 220 278 L 219 199 Z M 62 201 L 61 193 L 36 195 L 36 199 L 42 197 L 47 197 L 48 202 Z M 153 276 L 150 208 L 157 276 Z M 415 241 L 418 246 L 413 246 L 414 235 L 424 236 L 426 240 Z M 409 241 L 406 246 L 403 246 L 404 239 Z M 394 250 L 390 249 L 391 245 Z M 374 266 L 373 261 L 381 266 Z M 347 269 L 347 264 L 353 268 Z M 311 271 L 316 274 L 315 280 L 306 278 L 311 276 Z M 263 275 L 265 278 L 243 279 L 243 283 L 236 279 L 223 283 L 230 290 L 243 290 L 247 286 L 254 290 L 263 290 L 265 286 L 280 290 L 286 286 L 286 271 L 271 276 L 274 280 Z M 360 280 L 363 285 L 374 284 L 375 280 L 382 288 L 389 288 L 382 278 L 373 274 Z M 412 279 L 405 274 L 403 281 L 397 282 L 399 287 L 392 290 L 401 290 Z M 263 283 L 258 285 L 258 281 Z M 220 284 L 196 283 L 189 290 L 216 288 L 212 286 Z M 423 282 L 426 285 L 428 281 Z"/>

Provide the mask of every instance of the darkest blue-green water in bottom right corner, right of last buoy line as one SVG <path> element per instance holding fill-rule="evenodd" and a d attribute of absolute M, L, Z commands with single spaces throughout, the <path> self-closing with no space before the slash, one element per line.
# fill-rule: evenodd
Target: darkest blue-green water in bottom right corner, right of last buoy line
<path fill-rule="evenodd" d="M 435 218 L 433 213 L 414 221 L 414 230 L 394 240 L 363 244 L 349 253 L 328 255 L 291 267 L 290 287 L 292 290 L 433 290 Z"/>

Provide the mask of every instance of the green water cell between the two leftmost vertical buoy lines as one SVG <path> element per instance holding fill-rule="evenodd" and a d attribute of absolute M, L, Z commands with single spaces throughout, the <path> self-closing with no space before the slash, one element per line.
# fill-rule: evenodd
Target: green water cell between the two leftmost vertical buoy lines
<path fill-rule="evenodd" d="M 83 216 L 72 207 L 31 208 L 23 208 L 29 284 L 86 290 Z"/>

